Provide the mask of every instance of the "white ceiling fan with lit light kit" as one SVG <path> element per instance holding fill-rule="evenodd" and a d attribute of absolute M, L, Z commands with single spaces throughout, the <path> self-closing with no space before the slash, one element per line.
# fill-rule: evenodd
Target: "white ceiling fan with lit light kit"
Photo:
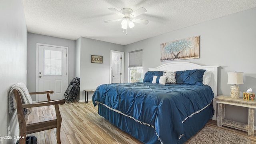
<path fill-rule="evenodd" d="M 111 10 L 112 12 L 118 14 L 119 16 L 123 17 L 120 19 L 116 19 L 116 20 L 108 20 L 105 21 L 106 23 L 108 22 L 117 22 L 117 21 L 121 21 L 121 25 L 123 29 L 127 30 L 127 26 L 129 26 L 129 28 L 133 28 L 134 27 L 134 22 L 135 23 L 139 23 L 139 24 L 148 24 L 148 20 L 142 20 L 142 19 L 138 19 L 135 18 L 136 16 L 139 16 L 140 14 L 145 13 L 147 10 L 143 7 L 139 8 L 138 10 L 134 11 L 130 8 L 123 8 L 122 10 L 118 11 L 116 8 L 108 8 L 109 10 Z"/>

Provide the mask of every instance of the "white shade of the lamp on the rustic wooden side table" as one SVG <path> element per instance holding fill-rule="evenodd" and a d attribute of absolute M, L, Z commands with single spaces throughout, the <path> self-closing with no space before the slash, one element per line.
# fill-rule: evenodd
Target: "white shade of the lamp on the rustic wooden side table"
<path fill-rule="evenodd" d="M 228 84 L 244 84 L 243 72 L 228 72 Z"/>

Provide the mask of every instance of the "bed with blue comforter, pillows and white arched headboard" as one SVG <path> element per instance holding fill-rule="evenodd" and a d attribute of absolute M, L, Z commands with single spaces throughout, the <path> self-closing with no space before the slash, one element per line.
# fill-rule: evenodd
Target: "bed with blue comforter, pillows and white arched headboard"
<path fill-rule="evenodd" d="M 216 120 L 217 68 L 188 62 L 149 68 L 144 82 L 100 85 L 93 104 L 145 144 L 182 144 Z"/>

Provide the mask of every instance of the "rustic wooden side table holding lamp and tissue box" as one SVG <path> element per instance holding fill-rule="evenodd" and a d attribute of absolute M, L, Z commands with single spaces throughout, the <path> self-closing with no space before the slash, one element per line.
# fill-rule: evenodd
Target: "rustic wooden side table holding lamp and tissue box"
<path fill-rule="evenodd" d="M 254 136 L 254 108 L 256 108 L 255 100 L 244 100 L 242 98 L 231 98 L 230 96 L 217 96 L 216 103 L 218 103 L 218 120 L 217 126 L 228 126 L 238 130 L 248 131 L 248 135 Z M 248 124 L 235 122 L 233 120 L 225 119 L 225 105 L 242 106 L 249 108 L 248 110 Z"/>

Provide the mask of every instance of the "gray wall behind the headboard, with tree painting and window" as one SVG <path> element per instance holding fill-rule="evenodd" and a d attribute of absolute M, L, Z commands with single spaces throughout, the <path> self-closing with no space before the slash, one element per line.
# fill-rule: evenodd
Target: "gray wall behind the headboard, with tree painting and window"
<path fill-rule="evenodd" d="M 230 95 L 227 72 L 244 72 L 242 92 L 252 88 L 256 92 L 256 8 L 168 32 L 125 46 L 125 71 L 128 71 L 128 52 L 143 49 L 144 73 L 151 67 L 173 62 L 160 62 L 160 44 L 191 36 L 200 36 L 200 58 L 179 60 L 200 65 L 218 65 L 218 95 Z M 125 75 L 125 81 L 128 76 Z M 248 109 L 227 106 L 226 117 L 248 122 Z M 239 114 L 239 116 L 238 116 Z"/>

